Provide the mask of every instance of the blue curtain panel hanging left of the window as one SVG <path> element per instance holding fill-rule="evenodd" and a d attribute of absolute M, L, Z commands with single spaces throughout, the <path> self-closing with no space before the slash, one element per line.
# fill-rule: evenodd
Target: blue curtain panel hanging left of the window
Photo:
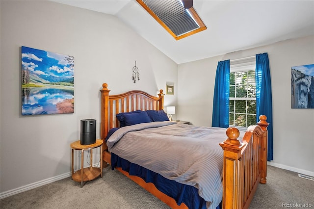
<path fill-rule="evenodd" d="M 218 62 L 212 108 L 212 127 L 229 127 L 230 60 Z"/>

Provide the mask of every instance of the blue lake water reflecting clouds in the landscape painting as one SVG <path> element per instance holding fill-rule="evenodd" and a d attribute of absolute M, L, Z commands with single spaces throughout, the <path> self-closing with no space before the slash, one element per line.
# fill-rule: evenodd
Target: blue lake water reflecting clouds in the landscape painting
<path fill-rule="evenodd" d="M 22 114 L 59 114 L 57 104 L 74 98 L 71 87 L 22 88 Z"/>

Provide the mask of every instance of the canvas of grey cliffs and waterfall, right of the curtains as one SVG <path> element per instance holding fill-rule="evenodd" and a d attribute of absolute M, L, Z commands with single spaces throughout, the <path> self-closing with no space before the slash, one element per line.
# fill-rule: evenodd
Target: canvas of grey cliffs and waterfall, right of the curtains
<path fill-rule="evenodd" d="M 291 67 L 291 108 L 314 108 L 314 64 Z"/>

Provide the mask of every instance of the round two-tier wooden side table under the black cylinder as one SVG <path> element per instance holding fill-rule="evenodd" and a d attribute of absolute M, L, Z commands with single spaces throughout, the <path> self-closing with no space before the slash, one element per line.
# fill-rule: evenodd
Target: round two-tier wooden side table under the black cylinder
<path fill-rule="evenodd" d="M 93 149 L 100 147 L 100 167 L 93 167 Z M 83 187 L 83 182 L 91 181 L 97 177 L 103 177 L 103 155 L 102 155 L 103 140 L 97 139 L 96 143 L 89 145 L 81 145 L 80 140 L 71 143 L 72 148 L 72 179 L 80 182 L 80 187 Z M 81 152 L 80 169 L 74 173 L 74 150 Z M 90 150 L 90 167 L 84 168 L 84 150 Z"/>

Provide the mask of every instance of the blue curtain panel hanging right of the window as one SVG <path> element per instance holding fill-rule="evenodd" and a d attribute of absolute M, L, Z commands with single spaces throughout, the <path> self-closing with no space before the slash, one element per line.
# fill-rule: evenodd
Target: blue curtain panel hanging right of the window
<path fill-rule="evenodd" d="M 267 116 L 268 144 L 267 160 L 273 160 L 273 111 L 271 96 L 271 80 L 268 54 L 256 54 L 256 116 L 257 122 L 260 115 Z"/>

